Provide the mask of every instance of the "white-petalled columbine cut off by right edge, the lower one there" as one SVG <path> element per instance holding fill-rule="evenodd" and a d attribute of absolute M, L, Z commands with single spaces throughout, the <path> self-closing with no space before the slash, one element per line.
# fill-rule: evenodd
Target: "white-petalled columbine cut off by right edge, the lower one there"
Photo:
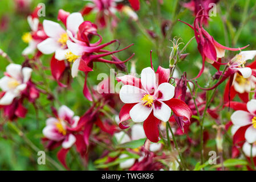
<path fill-rule="evenodd" d="M 231 115 L 231 122 L 235 127 L 247 127 L 245 139 L 249 143 L 254 143 L 256 142 L 256 100 L 247 102 L 246 106 L 247 110 L 237 110 Z"/>

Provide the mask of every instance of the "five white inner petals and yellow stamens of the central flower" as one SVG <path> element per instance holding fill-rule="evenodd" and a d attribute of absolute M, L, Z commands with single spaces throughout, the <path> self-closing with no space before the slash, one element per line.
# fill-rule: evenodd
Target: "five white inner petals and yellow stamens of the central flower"
<path fill-rule="evenodd" d="M 141 88 L 124 85 L 120 90 L 120 99 L 125 104 L 137 103 L 129 111 L 134 122 L 145 121 L 153 110 L 153 114 L 161 121 L 170 118 L 170 107 L 164 103 L 174 96 L 175 87 L 168 82 L 158 85 L 156 73 L 152 68 L 141 71 Z"/>

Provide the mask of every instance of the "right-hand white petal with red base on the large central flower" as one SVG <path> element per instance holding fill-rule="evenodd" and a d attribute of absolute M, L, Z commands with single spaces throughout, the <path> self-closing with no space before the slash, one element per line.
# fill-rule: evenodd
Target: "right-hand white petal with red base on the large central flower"
<path fill-rule="evenodd" d="M 162 83 L 159 85 L 159 87 L 157 88 L 159 92 L 156 92 L 156 94 L 158 94 L 158 96 L 156 96 L 156 98 L 158 98 L 158 100 L 160 101 L 169 101 L 171 98 L 173 98 L 174 96 L 174 90 L 175 87 L 167 82 Z"/>

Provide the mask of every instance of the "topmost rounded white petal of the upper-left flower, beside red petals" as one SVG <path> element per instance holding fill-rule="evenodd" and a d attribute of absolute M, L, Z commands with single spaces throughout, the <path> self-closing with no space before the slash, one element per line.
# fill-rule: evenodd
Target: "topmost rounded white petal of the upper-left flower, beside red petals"
<path fill-rule="evenodd" d="M 74 35 L 78 32 L 78 27 L 84 22 L 81 13 L 71 13 L 67 17 L 67 30 L 70 30 Z"/>

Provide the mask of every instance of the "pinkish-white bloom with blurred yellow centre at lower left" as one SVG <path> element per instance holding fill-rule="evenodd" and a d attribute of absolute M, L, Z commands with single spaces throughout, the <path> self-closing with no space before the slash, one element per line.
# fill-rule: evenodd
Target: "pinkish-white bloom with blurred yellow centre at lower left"
<path fill-rule="evenodd" d="M 72 110 L 62 105 L 58 110 L 58 114 L 55 114 L 55 118 L 51 117 L 46 120 L 43 135 L 55 142 L 62 141 L 63 148 L 70 148 L 76 142 L 76 137 L 68 128 L 75 128 L 79 119 L 78 116 L 74 116 Z"/>

